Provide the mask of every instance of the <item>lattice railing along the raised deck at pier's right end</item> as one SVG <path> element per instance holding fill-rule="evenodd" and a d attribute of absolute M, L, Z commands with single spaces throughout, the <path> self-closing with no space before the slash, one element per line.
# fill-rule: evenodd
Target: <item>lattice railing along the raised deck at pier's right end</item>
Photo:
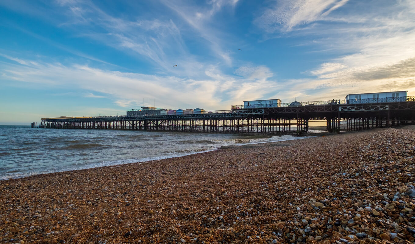
<path fill-rule="evenodd" d="M 343 100 L 325 100 L 325 101 L 307 101 L 307 102 L 281 102 L 279 104 L 251 104 L 251 105 L 232 105 L 234 109 L 244 108 L 270 108 L 270 107 L 298 107 L 313 105 L 338 105 L 338 104 L 365 104 L 365 103 L 381 103 L 381 102 L 406 102 L 415 101 L 415 96 L 393 97 L 393 98 L 363 98 L 363 99 L 343 99 Z"/>

